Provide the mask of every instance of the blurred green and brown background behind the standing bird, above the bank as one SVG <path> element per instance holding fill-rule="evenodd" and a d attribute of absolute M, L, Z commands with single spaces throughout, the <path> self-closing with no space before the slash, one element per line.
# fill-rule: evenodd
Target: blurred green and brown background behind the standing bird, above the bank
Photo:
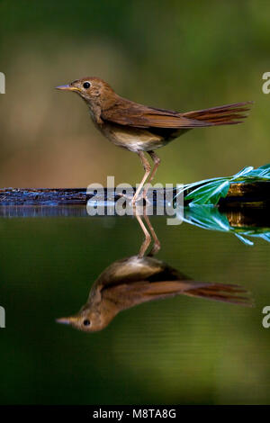
<path fill-rule="evenodd" d="M 269 161 L 266 1 L 1 1 L 0 186 L 139 182 L 85 103 L 54 86 L 101 76 L 139 103 L 190 111 L 254 100 L 238 127 L 193 130 L 159 150 L 156 181 L 187 183 Z"/>

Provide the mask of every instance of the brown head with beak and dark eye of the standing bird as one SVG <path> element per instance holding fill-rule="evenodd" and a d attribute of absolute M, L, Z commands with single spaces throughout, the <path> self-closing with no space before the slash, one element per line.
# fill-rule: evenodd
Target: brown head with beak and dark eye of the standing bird
<path fill-rule="evenodd" d="M 103 79 L 95 76 L 86 76 L 67 85 L 59 85 L 56 87 L 62 91 L 74 91 L 79 94 L 86 103 L 91 105 L 101 105 L 103 102 L 110 101 L 114 91 L 111 86 Z"/>

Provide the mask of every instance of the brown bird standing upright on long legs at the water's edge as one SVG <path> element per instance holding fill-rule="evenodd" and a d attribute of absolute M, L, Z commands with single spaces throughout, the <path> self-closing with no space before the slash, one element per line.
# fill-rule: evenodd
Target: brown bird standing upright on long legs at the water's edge
<path fill-rule="evenodd" d="M 79 94 L 88 105 L 97 129 L 115 145 L 139 155 L 145 174 L 132 198 L 133 203 L 139 198 L 147 179 L 150 183 L 157 172 L 160 158 L 155 149 L 166 146 L 186 130 L 240 123 L 247 117 L 243 114 L 249 110 L 247 105 L 252 103 L 227 104 L 184 113 L 157 109 L 122 98 L 110 85 L 94 76 L 76 79 L 69 85 L 57 86 L 57 89 Z M 154 161 L 152 172 L 145 152 Z M 147 189 L 144 190 L 145 198 L 146 193 Z"/>

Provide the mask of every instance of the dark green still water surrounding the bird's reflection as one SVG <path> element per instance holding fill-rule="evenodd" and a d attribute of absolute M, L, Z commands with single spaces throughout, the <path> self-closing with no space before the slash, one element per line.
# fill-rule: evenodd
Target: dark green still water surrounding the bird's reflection
<path fill-rule="evenodd" d="M 151 259 L 203 286 L 240 285 L 255 306 L 177 294 L 137 301 L 87 333 L 56 320 L 81 309 L 104 269 L 138 255 L 143 233 L 134 217 L 52 214 L 0 218 L 1 403 L 270 402 L 267 232 L 252 246 L 229 230 L 167 226 L 153 216 L 161 247 Z"/>

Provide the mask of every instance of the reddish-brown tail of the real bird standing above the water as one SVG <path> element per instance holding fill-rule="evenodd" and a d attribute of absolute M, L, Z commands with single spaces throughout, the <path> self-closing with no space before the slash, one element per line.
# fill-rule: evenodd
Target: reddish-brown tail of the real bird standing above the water
<path fill-rule="evenodd" d="M 194 112 L 183 113 L 182 116 L 195 121 L 207 123 L 205 126 L 233 125 L 241 123 L 247 118 L 246 112 L 250 110 L 253 102 L 226 104 L 211 109 L 197 110 Z"/>

